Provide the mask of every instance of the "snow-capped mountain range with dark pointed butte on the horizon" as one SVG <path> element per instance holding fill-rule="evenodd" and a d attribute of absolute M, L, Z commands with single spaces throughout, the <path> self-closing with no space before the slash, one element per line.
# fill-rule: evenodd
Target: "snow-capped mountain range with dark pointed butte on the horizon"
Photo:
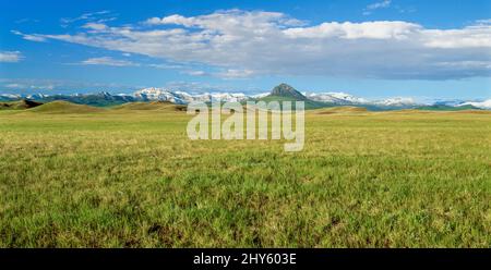
<path fill-rule="evenodd" d="M 100 91 L 97 94 L 74 94 L 74 95 L 15 95 L 0 94 L 0 101 L 33 100 L 38 102 L 50 102 L 64 100 L 73 103 L 88 105 L 96 107 L 117 106 L 136 101 L 170 101 L 177 105 L 185 105 L 192 101 L 237 101 L 248 100 L 301 100 L 306 101 L 307 109 L 334 107 L 334 106 L 357 106 L 369 110 L 394 110 L 394 109 L 427 109 L 427 110 L 459 110 L 459 109 L 484 109 L 491 110 L 491 99 L 489 100 L 438 100 L 432 103 L 418 103 L 411 98 L 388 98 L 383 100 L 368 100 L 355 97 L 345 93 L 312 93 L 302 94 L 287 84 L 280 84 L 268 94 L 244 95 L 236 93 L 205 93 L 192 95 L 182 90 L 171 90 L 165 88 L 144 88 L 129 94 L 110 94 Z"/>

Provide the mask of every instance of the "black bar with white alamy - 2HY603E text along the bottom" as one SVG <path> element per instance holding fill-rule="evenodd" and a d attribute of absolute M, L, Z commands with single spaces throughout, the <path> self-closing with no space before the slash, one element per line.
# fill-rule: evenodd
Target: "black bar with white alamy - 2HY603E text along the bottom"
<path fill-rule="evenodd" d="M 248 256 L 244 256 L 248 255 Z M 261 255 L 261 256 L 260 256 Z M 279 255 L 279 256 L 278 256 Z M 286 260 L 286 255 L 289 255 Z M 292 257 L 291 257 L 292 255 Z M 197 256 L 197 257 L 196 257 Z M 214 256 L 214 257 L 206 257 Z M 220 256 L 230 256 L 227 266 Z M 268 261 L 266 260 L 270 256 Z M 275 257 L 276 256 L 276 257 Z M 283 256 L 283 257 L 282 257 Z M 249 263 L 243 263 L 244 259 Z M 282 257 L 283 260 L 278 260 Z M 195 263 L 199 258 L 201 263 Z M 203 258 L 216 258 L 202 263 Z M 261 260 L 263 258 L 263 260 Z M 294 258 L 294 259 L 292 259 Z M 167 269 L 345 269 L 376 267 L 397 269 L 421 267 L 486 266 L 490 249 L 1 249 L 1 263 L 50 268 L 108 266 Z M 292 259 L 292 260 L 291 260 Z M 155 268 L 155 266 L 161 266 Z"/>

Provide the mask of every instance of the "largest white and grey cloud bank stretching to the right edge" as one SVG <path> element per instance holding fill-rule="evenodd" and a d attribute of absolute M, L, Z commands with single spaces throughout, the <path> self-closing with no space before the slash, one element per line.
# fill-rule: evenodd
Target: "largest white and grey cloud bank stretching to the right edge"
<path fill-rule="evenodd" d="M 491 25 L 482 23 L 455 29 L 402 21 L 308 25 L 278 12 L 230 10 L 152 17 L 134 25 L 85 26 L 79 33 L 31 35 L 199 63 L 223 71 L 215 75 L 224 78 L 277 74 L 386 79 L 491 76 Z"/>

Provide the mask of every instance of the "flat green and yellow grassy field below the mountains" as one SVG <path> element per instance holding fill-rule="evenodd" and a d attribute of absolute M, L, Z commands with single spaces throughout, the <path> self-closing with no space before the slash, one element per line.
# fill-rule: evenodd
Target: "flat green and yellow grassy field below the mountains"
<path fill-rule="evenodd" d="M 490 113 L 314 110 L 284 152 L 36 109 L 0 112 L 2 247 L 491 247 Z"/>

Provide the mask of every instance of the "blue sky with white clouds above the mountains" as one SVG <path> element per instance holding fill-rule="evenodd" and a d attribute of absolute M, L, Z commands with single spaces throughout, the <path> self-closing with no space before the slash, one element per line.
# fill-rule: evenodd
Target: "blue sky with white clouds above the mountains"
<path fill-rule="evenodd" d="M 0 0 L 0 93 L 491 98 L 491 1 Z"/>

